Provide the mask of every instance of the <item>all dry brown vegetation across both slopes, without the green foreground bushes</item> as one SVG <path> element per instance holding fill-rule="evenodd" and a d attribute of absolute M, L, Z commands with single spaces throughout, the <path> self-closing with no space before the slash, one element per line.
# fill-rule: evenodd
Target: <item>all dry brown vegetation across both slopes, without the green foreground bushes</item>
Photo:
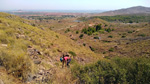
<path fill-rule="evenodd" d="M 0 79 L 6 84 L 73 84 L 79 80 L 71 72 L 72 67 L 95 63 L 103 57 L 150 57 L 147 22 L 109 23 L 98 18 L 74 22 L 76 19 L 40 22 L 0 13 Z M 98 24 L 102 27 L 99 32 L 82 33 L 82 29 Z M 105 31 L 108 28 L 113 31 Z M 59 57 L 66 52 L 71 55 L 71 67 L 62 69 Z"/>

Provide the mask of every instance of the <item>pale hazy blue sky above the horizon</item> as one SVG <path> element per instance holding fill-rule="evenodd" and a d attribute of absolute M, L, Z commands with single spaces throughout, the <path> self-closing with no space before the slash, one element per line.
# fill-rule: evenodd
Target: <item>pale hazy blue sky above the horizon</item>
<path fill-rule="evenodd" d="M 0 10 L 114 10 L 150 7 L 150 0 L 0 0 Z"/>

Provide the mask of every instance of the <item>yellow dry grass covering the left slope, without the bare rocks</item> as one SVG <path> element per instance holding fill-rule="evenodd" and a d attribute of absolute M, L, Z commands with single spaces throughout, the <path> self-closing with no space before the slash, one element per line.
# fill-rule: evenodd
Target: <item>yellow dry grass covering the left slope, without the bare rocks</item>
<path fill-rule="evenodd" d="M 66 84 L 73 81 L 73 79 L 71 79 L 70 69 L 62 70 L 57 68 L 61 65 L 56 66 L 56 63 L 59 64 L 60 54 L 73 51 L 77 54 L 74 60 L 82 64 L 90 63 L 97 58 L 101 58 L 101 55 L 97 56 L 90 49 L 77 45 L 77 43 L 68 39 L 66 36 L 55 33 L 49 29 L 42 30 L 33 27 L 29 21 L 17 16 L 0 13 L 0 20 L 2 22 L 0 23 L 0 60 L 2 60 L 7 73 L 12 74 L 22 81 L 26 80 L 28 74 L 36 73 L 39 70 L 36 67 L 37 65 L 33 63 L 31 57 L 27 54 L 27 47 L 29 45 L 42 53 L 38 58 L 42 59 L 44 63 L 48 63 L 49 60 L 52 60 L 51 63 L 40 64 L 40 66 L 46 69 L 56 68 L 57 73 L 52 73 L 54 75 L 52 82 L 55 84 Z M 7 46 L 1 46 L 4 44 Z M 80 62 L 80 58 L 85 60 Z M 58 72 L 60 72 L 60 74 Z M 7 76 L 6 74 L 6 77 Z M 10 83 L 10 81 L 6 79 L 4 79 L 4 81 L 6 81 L 7 84 Z"/>

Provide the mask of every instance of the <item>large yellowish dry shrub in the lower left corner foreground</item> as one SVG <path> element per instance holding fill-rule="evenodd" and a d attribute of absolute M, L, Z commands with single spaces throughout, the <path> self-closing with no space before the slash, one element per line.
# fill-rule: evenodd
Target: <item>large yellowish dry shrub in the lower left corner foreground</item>
<path fill-rule="evenodd" d="M 27 80 L 29 73 L 34 70 L 33 62 L 24 53 L 0 50 L 0 60 L 9 74 Z"/>

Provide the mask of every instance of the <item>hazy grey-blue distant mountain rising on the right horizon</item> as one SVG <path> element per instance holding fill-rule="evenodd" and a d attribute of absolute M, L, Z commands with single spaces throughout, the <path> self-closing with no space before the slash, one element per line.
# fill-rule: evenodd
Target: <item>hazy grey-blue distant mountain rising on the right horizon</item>
<path fill-rule="evenodd" d="M 114 16 L 114 15 L 126 15 L 126 14 L 150 14 L 150 7 L 136 6 L 136 7 L 126 8 L 126 9 L 103 12 L 98 15 Z"/>

